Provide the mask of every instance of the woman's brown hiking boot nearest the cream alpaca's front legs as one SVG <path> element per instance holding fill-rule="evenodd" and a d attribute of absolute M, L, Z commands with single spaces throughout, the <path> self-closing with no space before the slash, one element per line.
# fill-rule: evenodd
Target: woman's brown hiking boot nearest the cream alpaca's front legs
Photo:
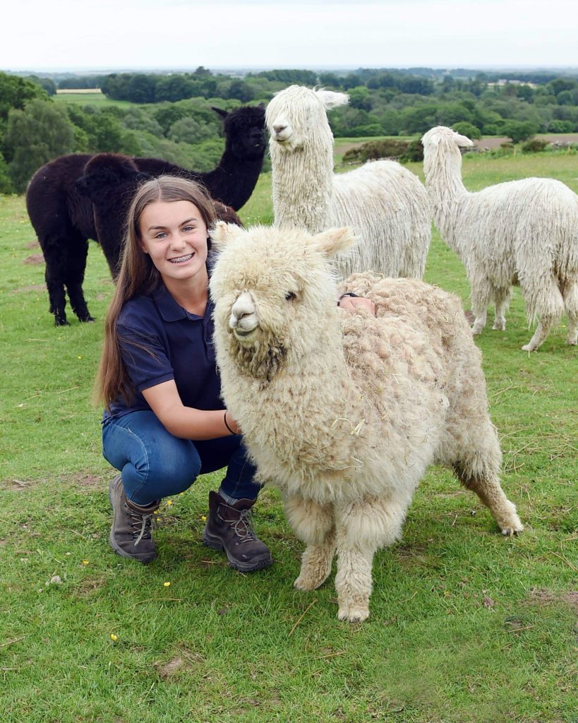
<path fill-rule="evenodd" d="M 203 530 L 203 542 L 212 549 L 223 549 L 231 568 L 251 573 L 273 562 L 264 542 L 251 525 L 254 500 L 237 500 L 229 505 L 217 492 L 209 492 L 209 516 Z"/>

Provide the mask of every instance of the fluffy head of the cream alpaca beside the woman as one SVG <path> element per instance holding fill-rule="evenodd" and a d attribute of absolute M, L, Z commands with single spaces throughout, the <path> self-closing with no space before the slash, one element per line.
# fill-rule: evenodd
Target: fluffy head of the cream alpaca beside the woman
<path fill-rule="evenodd" d="M 285 362 L 327 348 L 337 328 L 329 257 L 354 243 L 348 229 L 310 236 L 300 229 L 217 223 L 210 280 L 215 334 L 241 369 L 271 380 Z M 311 317 L 323 334 L 311 335 Z"/>

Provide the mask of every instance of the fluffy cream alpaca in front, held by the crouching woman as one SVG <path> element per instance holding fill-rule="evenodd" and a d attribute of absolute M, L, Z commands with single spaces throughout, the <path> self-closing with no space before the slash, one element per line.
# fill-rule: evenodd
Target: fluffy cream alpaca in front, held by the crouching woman
<path fill-rule="evenodd" d="M 341 290 L 373 299 L 377 317 L 350 314 L 329 273 L 353 243 L 348 229 L 220 222 L 212 239 L 223 398 L 306 543 L 296 588 L 319 587 L 337 552 L 338 617 L 365 620 L 374 552 L 400 537 L 432 463 L 451 466 L 503 534 L 523 529 L 500 487 L 480 352 L 457 297 L 354 274 Z"/>

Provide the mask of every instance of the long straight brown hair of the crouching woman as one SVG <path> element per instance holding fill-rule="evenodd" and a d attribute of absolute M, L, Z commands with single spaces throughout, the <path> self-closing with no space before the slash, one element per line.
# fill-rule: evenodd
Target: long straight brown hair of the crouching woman
<path fill-rule="evenodd" d="M 95 401 L 110 409 L 119 396 L 130 403 L 134 396 L 129 375 L 122 361 L 116 320 L 126 301 L 139 294 L 150 294 L 162 283 L 160 273 L 140 245 L 140 218 L 150 203 L 156 201 L 190 201 L 199 209 L 209 229 L 215 221 L 215 209 L 207 191 L 195 181 L 178 176 L 160 176 L 145 181 L 137 189 L 126 216 L 126 234 L 116 291 L 105 319 L 105 335 L 100 366 L 95 381 Z M 207 240 L 210 245 L 210 241 Z"/>

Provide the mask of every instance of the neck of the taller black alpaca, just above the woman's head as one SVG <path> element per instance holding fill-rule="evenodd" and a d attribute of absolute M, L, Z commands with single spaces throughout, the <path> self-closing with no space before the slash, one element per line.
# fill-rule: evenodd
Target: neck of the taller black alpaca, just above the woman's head
<path fill-rule="evenodd" d="M 212 198 L 238 211 L 253 193 L 262 166 L 262 155 L 241 159 L 225 148 L 217 168 L 199 175 Z"/>

